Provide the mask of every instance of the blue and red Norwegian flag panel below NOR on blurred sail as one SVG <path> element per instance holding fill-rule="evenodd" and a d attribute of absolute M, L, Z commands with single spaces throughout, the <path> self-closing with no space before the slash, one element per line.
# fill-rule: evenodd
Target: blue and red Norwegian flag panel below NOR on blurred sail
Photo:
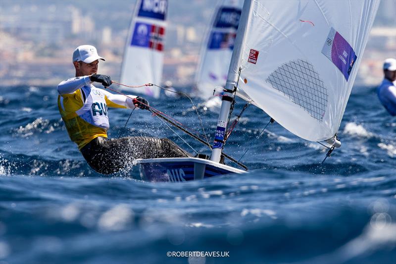
<path fill-rule="evenodd" d="M 165 28 L 142 22 L 136 22 L 131 46 L 149 48 L 162 52 L 164 49 Z"/>

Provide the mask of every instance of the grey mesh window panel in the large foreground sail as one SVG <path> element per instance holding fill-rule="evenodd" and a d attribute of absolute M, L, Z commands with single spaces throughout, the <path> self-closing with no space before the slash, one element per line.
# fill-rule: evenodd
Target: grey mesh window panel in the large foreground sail
<path fill-rule="evenodd" d="M 327 89 L 312 64 L 301 59 L 282 64 L 266 82 L 313 118 L 322 121 L 327 106 Z"/>

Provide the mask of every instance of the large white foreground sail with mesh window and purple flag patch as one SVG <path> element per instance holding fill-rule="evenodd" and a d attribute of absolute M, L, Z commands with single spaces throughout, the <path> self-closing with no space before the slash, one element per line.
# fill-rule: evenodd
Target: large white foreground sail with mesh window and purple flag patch
<path fill-rule="evenodd" d="M 230 66 L 234 74 L 242 67 L 239 88 L 297 136 L 333 137 L 378 5 L 375 0 L 252 0 L 247 23 L 240 25 L 246 27 L 242 58 Z"/>

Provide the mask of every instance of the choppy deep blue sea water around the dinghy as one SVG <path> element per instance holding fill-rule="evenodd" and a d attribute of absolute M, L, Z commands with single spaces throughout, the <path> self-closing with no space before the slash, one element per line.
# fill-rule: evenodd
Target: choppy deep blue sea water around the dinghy
<path fill-rule="evenodd" d="M 343 146 L 323 165 L 322 146 L 277 123 L 255 140 L 269 117 L 249 106 L 225 148 L 237 159 L 249 148 L 249 173 L 187 183 L 144 182 L 136 167 L 96 173 L 68 138 L 54 87 L 0 89 L 1 264 L 395 263 L 396 119 L 375 88 L 354 88 Z M 212 142 L 216 107 L 195 102 Z M 188 99 L 150 104 L 200 129 Z M 129 114 L 109 109 L 110 137 L 168 137 L 191 151 L 148 111 L 124 129 Z"/>

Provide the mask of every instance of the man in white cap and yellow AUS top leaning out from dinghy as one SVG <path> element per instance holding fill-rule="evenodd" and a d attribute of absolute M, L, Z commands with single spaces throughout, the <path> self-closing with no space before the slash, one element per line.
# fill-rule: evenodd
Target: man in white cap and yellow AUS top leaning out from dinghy
<path fill-rule="evenodd" d="M 73 53 L 76 77 L 59 83 L 58 107 L 70 139 L 97 172 L 111 174 L 130 166 L 135 158 L 185 158 L 189 153 L 169 139 L 123 137 L 108 139 L 107 107 L 148 109 L 148 101 L 136 96 L 114 95 L 93 85 L 111 85 L 109 76 L 98 74 L 94 46 L 79 46 Z"/>

